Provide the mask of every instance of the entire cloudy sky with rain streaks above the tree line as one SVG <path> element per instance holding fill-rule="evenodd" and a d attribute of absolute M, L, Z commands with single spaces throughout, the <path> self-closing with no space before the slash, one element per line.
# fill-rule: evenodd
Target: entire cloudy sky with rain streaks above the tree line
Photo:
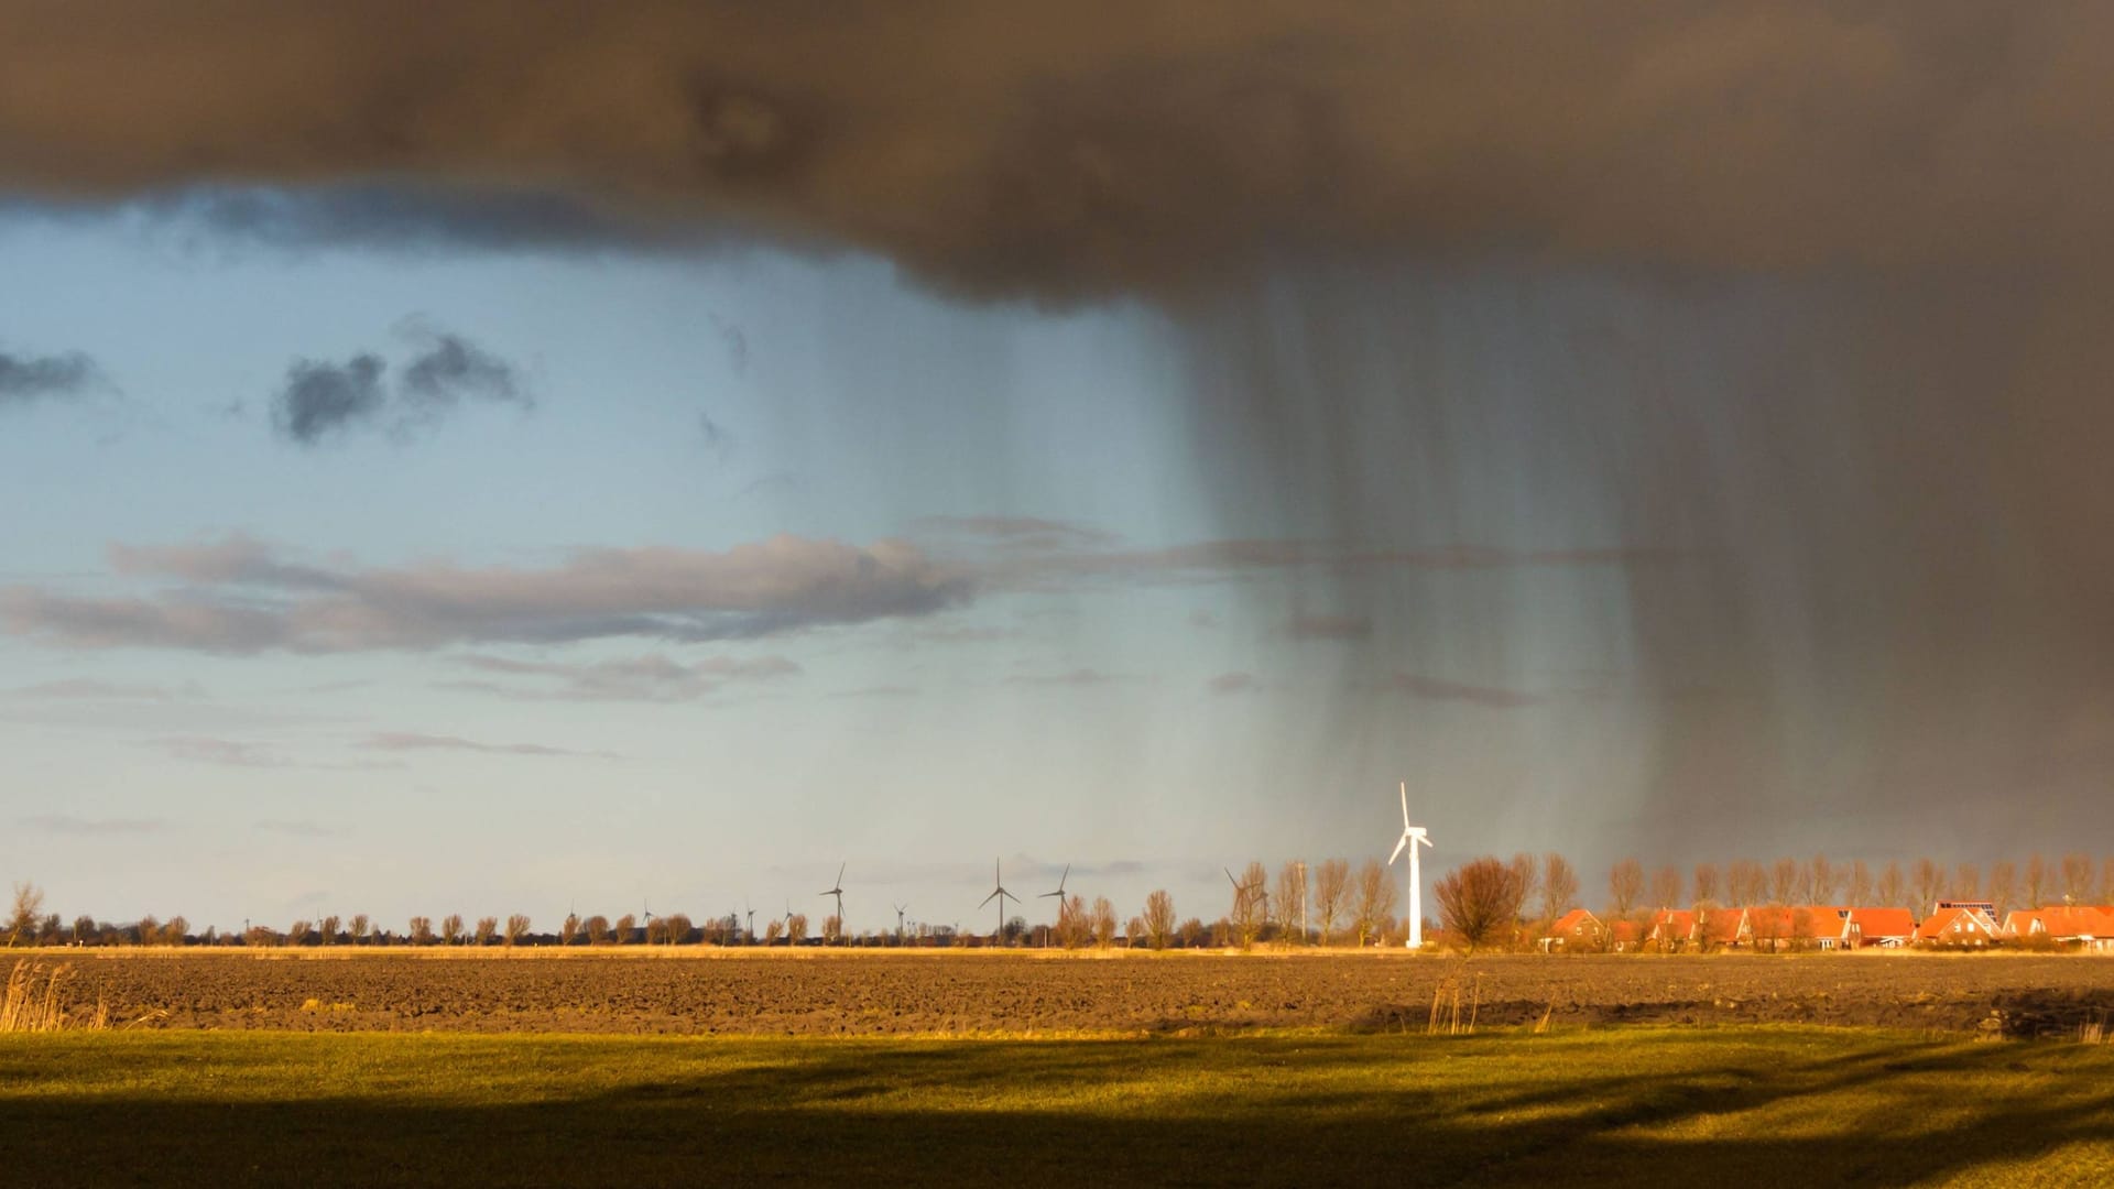
<path fill-rule="evenodd" d="M 1205 17 L 8 8 L 0 878 L 2114 850 L 2103 15 Z"/>

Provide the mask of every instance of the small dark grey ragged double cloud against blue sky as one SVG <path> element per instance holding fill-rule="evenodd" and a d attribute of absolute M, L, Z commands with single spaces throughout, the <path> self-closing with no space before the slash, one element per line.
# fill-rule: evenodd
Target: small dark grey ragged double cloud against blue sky
<path fill-rule="evenodd" d="M 520 368 L 461 334 L 412 317 L 397 326 L 397 336 L 414 353 L 393 391 L 389 364 L 376 353 L 359 353 L 345 364 L 296 360 L 273 394 L 273 427 L 292 442 L 315 446 L 359 427 L 410 436 L 465 400 L 535 404 L 522 389 Z"/>

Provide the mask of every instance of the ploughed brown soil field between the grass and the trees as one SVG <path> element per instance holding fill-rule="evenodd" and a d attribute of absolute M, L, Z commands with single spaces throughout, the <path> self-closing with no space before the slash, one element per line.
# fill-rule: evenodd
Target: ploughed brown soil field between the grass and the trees
<path fill-rule="evenodd" d="M 2114 1011 L 2114 958 L 226 952 L 47 954 L 76 1011 L 152 1028 L 461 1032 L 1182 1032 L 1423 1030 L 1442 986 L 1463 1020 L 1531 1024 L 1871 1024 L 2076 1035 Z M 1459 980 L 1450 984 L 1448 980 Z M 1450 990 L 1444 992 L 1450 999 Z"/>

